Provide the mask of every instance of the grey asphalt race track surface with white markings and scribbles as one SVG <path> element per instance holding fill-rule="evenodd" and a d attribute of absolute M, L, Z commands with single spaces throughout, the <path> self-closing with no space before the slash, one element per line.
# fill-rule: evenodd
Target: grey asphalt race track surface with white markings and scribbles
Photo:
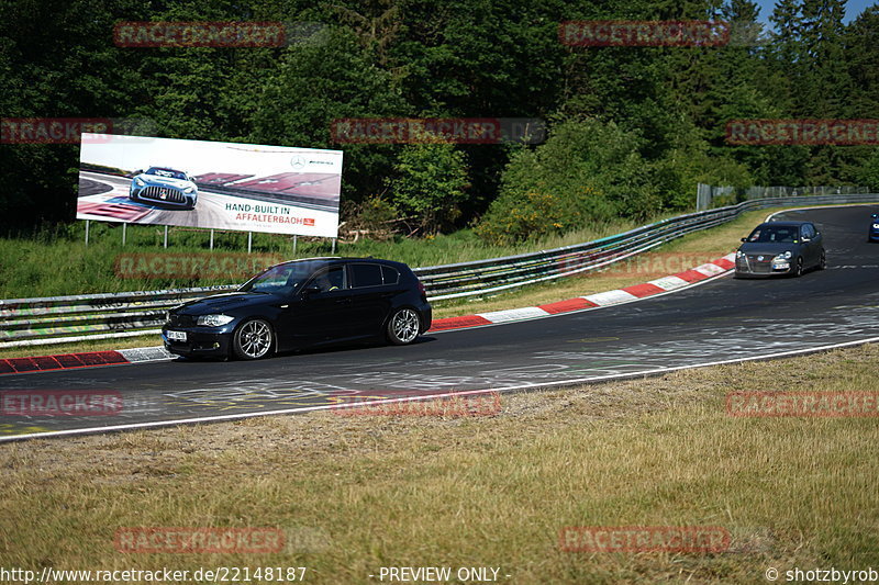
<path fill-rule="evenodd" d="M 608 308 L 432 334 L 409 347 L 4 375 L 0 391 L 109 390 L 121 393 L 123 408 L 113 416 L 0 416 L 0 436 L 309 409 L 397 392 L 588 382 L 879 338 L 879 244 L 866 240 L 870 211 L 780 215 L 811 220 L 824 234 L 827 269 L 800 279 L 724 277 Z"/>

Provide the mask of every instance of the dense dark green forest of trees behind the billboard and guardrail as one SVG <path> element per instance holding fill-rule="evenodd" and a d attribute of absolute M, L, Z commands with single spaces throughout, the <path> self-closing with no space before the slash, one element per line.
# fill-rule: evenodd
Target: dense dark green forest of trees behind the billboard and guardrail
<path fill-rule="evenodd" d="M 727 144 L 736 119 L 875 119 L 879 8 L 779 0 L 0 0 L 0 115 L 345 150 L 345 213 L 492 243 L 692 207 L 696 184 L 864 184 L 874 146 Z M 559 23 L 713 20 L 734 42 L 572 47 Z M 122 48 L 120 21 L 312 23 L 270 48 Z M 313 26 L 319 23 L 320 26 Z M 342 117 L 531 117 L 538 145 L 335 144 Z M 78 146 L 0 144 L 0 227 L 69 222 Z M 402 225 L 402 224 L 401 224 Z"/>

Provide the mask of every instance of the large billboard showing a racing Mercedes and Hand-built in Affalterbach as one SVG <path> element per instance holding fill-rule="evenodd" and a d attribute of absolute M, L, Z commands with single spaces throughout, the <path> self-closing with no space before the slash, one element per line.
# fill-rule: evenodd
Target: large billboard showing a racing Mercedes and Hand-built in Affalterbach
<path fill-rule="evenodd" d="M 342 151 L 82 133 L 77 220 L 338 235 Z"/>

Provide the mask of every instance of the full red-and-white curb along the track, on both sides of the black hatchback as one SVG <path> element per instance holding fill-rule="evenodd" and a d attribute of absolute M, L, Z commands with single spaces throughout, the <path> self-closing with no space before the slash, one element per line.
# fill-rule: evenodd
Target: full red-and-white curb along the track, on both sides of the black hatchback
<path fill-rule="evenodd" d="M 625 286 L 615 291 L 607 291 L 586 296 L 575 296 L 566 301 L 558 301 L 539 306 L 510 308 L 478 313 L 461 317 L 435 319 L 429 333 L 450 331 L 469 327 L 514 323 L 535 318 L 549 317 L 575 311 L 603 308 L 624 303 L 641 301 L 658 294 L 666 294 L 680 289 L 702 284 L 709 280 L 721 277 L 735 268 L 735 254 L 730 254 L 717 260 L 704 263 L 677 274 L 663 277 L 643 284 Z M 15 374 L 27 372 L 49 372 L 55 370 L 71 370 L 77 368 L 93 368 L 97 365 L 120 365 L 127 363 L 143 363 L 149 361 L 165 361 L 176 356 L 165 350 L 164 347 L 145 347 L 119 349 L 113 351 L 89 351 L 84 353 L 64 353 L 58 356 L 38 356 L 34 358 L 0 359 L 0 374 Z"/>

